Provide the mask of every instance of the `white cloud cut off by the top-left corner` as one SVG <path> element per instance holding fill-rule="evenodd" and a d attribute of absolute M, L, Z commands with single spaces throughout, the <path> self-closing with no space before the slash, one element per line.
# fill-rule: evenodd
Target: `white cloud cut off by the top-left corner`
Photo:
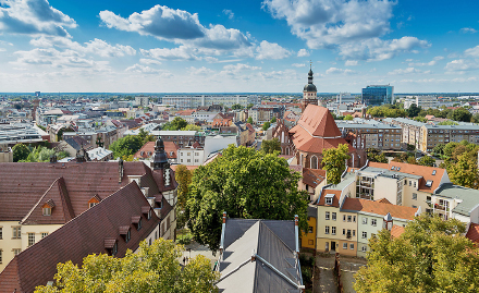
<path fill-rule="evenodd" d="M 1 0 L 0 32 L 24 35 L 70 36 L 76 23 L 47 0 Z"/>

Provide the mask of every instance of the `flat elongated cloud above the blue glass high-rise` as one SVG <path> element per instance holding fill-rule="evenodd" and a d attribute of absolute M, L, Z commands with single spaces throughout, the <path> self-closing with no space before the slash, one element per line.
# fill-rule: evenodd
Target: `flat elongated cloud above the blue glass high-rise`
<path fill-rule="evenodd" d="M 372 38 L 358 44 L 346 44 L 340 47 L 340 54 L 353 60 L 380 61 L 392 59 L 404 52 L 416 52 L 415 48 L 428 48 L 430 44 L 416 37 L 382 40 Z"/>

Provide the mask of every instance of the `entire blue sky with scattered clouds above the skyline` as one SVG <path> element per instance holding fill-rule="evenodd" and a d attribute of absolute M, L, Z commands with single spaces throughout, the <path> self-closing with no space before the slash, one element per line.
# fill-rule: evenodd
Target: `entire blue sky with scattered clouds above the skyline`
<path fill-rule="evenodd" d="M 0 91 L 479 91 L 479 1 L 0 0 Z"/>

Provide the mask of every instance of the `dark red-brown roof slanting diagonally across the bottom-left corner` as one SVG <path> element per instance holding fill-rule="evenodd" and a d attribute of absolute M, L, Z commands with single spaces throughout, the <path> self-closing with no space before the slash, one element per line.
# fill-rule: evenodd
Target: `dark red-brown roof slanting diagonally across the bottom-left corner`
<path fill-rule="evenodd" d="M 116 257 L 135 251 L 139 242 L 160 223 L 151 213 L 147 220 L 142 207 L 149 205 L 138 185 L 132 182 L 86 210 L 35 245 L 23 251 L 0 273 L 0 292 L 34 292 L 35 286 L 53 281 L 57 264 L 72 260 L 81 265 L 89 254 L 107 254 L 106 246 L 118 243 Z M 119 229 L 132 225 L 132 216 L 143 217 L 142 229 L 131 229 L 128 243 Z M 94 228 L 94 229 L 93 229 Z"/>

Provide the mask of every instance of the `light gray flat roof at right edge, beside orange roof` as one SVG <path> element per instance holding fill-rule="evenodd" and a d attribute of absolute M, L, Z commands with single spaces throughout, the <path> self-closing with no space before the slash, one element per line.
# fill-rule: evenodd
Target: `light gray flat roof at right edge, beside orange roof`
<path fill-rule="evenodd" d="M 463 202 L 453 209 L 453 212 L 467 217 L 479 205 L 478 190 L 457 186 L 452 183 L 441 185 L 434 194 L 446 198 L 462 199 Z"/>

